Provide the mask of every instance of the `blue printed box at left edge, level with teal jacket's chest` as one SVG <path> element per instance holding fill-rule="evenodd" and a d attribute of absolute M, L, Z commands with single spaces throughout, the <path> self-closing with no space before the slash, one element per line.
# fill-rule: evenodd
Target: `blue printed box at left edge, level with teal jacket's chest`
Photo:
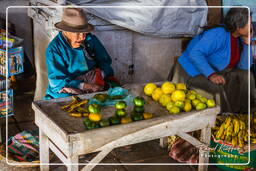
<path fill-rule="evenodd" d="M 24 54 L 22 47 L 8 49 L 8 73 L 6 74 L 6 50 L 0 49 L 0 75 L 10 77 L 24 71 Z"/>

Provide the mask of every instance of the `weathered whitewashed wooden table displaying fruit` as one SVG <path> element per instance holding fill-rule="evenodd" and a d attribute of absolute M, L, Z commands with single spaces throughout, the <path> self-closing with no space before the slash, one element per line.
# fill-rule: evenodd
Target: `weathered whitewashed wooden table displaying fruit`
<path fill-rule="evenodd" d="M 135 96 L 144 96 L 142 85 L 127 86 L 129 92 Z M 80 98 L 90 98 L 94 94 L 81 95 Z M 69 171 L 78 170 L 79 155 L 99 152 L 82 170 L 91 170 L 114 148 L 136 144 L 154 139 L 160 139 L 162 145 L 167 136 L 178 135 L 197 147 L 204 147 L 210 143 L 211 127 L 214 126 L 219 107 L 202 111 L 193 111 L 170 115 L 168 111 L 144 96 L 147 101 L 146 112 L 153 113 L 149 120 L 120 124 L 87 131 L 82 118 L 73 118 L 61 109 L 61 106 L 71 101 L 71 97 L 35 101 L 35 123 L 40 130 L 40 168 L 49 170 L 49 149 L 67 165 Z M 128 107 L 131 111 L 132 107 Z M 114 107 L 102 110 L 103 118 L 114 114 Z M 201 130 L 201 142 L 187 134 L 187 132 Z M 208 151 L 199 148 L 199 163 L 207 163 L 204 157 Z M 85 165 L 85 164 L 84 164 Z M 207 170 L 207 165 L 200 165 L 199 170 Z"/>

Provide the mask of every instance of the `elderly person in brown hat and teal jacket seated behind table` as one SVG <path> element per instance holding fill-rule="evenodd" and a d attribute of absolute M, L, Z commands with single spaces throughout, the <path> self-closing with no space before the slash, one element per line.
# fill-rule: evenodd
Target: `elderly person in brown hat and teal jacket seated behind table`
<path fill-rule="evenodd" d="M 45 99 L 101 91 L 109 82 L 118 84 L 111 57 L 90 33 L 94 27 L 81 9 L 65 9 L 55 27 L 61 31 L 46 50 L 49 83 Z"/>

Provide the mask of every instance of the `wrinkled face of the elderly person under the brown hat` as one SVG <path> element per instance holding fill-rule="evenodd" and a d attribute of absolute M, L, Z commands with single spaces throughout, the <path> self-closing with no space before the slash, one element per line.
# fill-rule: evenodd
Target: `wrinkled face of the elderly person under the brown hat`
<path fill-rule="evenodd" d="M 86 38 L 87 33 L 63 32 L 72 48 L 78 48 Z"/>

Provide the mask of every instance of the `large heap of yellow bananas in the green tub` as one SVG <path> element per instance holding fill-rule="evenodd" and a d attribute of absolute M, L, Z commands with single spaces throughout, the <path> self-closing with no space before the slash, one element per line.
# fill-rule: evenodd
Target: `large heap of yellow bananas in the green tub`
<path fill-rule="evenodd" d="M 253 120 L 254 121 L 254 120 Z M 218 116 L 213 134 L 216 139 L 231 143 L 233 146 L 244 147 L 248 143 L 248 118 L 247 115 L 239 114 L 232 116 Z M 255 124 L 255 123 L 254 123 Z M 251 130 L 252 131 L 252 130 Z M 251 132 L 251 136 L 255 132 Z M 252 143 L 256 139 L 251 137 Z"/>

